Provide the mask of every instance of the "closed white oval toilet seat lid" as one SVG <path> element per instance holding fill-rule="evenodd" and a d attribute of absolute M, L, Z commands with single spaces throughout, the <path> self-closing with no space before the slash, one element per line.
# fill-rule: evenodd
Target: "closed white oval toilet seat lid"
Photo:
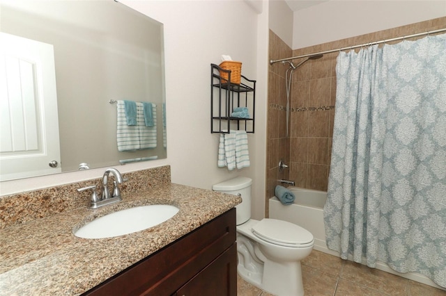
<path fill-rule="evenodd" d="M 251 231 L 257 238 L 274 245 L 309 247 L 314 244 L 314 237 L 311 232 L 296 224 L 282 220 L 263 219 L 256 223 Z"/>

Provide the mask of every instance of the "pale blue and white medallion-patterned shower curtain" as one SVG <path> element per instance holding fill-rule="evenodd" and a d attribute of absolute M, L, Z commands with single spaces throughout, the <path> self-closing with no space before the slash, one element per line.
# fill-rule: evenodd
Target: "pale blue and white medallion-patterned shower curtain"
<path fill-rule="evenodd" d="M 325 236 L 446 287 L 446 34 L 341 52 Z"/>

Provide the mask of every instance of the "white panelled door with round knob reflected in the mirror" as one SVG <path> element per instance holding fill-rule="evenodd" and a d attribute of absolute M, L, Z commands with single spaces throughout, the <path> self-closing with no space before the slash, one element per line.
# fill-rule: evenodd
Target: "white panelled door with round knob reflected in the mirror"
<path fill-rule="evenodd" d="M 52 44 L 0 33 L 0 181 L 61 172 Z"/>

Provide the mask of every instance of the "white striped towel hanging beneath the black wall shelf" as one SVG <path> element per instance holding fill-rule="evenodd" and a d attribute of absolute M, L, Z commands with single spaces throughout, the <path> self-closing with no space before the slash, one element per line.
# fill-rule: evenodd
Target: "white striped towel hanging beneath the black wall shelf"
<path fill-rule="evenodd" d="M 218 167 L 249 167 L 248 138 L 246 131 L 230 131 L 220 134 L 218 146 Z"/>

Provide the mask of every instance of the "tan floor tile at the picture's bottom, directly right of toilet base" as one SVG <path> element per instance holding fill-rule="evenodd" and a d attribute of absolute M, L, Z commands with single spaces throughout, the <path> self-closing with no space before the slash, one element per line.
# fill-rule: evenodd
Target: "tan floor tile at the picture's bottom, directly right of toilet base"
<path fill-rule="evenodd" d="M 336 289 L 337 276 L 302 265 L 302 281 L 305 296 L 332 296 Z"/>

